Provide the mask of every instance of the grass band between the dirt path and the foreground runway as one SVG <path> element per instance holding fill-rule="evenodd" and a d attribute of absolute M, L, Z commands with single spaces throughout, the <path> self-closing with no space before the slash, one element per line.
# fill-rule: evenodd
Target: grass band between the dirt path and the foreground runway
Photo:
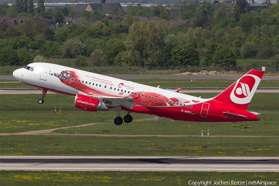
<path fill-rule="evenodd" d="M 5 135 L 0 155 L 278 157 L 278 137 Z"/>

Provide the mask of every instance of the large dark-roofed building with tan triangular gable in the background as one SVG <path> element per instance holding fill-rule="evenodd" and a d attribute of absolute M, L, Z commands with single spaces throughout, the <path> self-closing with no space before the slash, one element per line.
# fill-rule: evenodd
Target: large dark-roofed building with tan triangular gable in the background
<path fill-rule="evenodd" d="M 119 2 L 116 3 L 106 3 L 105 0 L 101 0 L 101 3 L 78 3 L 75 7 L 76 12 L 95 11 L 102 8 L 107 15 L 126 15 Z"/>

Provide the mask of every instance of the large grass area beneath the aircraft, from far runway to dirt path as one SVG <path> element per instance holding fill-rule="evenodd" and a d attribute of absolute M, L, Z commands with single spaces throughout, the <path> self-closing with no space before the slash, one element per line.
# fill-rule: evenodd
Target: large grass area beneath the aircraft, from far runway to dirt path
<path fill-rule="evenodd" d="M 210 98 L 218 93 L 191 93 L 189 95 Z M 0 95 L 0 130 L 2 133 L 36 131 L 85 123 L 103 123 L 92 126 L 59 129 L 63 133 L 91 134 L 151 134 L 151 135 L 200 135 L 210 130 L 210 135 L 266 135 L 278 136 L 278 94 L 255 93 L 248 111 L 261 113 L 259 122 L 198 123 L 168 120 L 146 114 L 132 113 L 134 121 L 116 126 L 113 109 L 84 112 L 74 108 L 74 98 L 49 94 L 44 104 L 38 104 L 39 95 Z M 15 104 L 17 103 L 17 104 Z M 61 110 L 59 111 L 59 107 Z M 54 108 L 56 107 L 56 112 Z M 122 117 L 126 115 L 122 111 Z M 105 122 L 105 123 L 104 123 Z"/>

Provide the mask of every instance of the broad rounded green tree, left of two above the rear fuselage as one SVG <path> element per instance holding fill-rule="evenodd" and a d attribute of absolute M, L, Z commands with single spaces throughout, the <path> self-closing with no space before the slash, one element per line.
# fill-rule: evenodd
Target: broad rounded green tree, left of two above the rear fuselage
<path fill-rule="evenodd" d="M 200 59 L 197 50 L 190 44 L 179 45 L 171 50 L 173 65 L 199 65 Z"/>

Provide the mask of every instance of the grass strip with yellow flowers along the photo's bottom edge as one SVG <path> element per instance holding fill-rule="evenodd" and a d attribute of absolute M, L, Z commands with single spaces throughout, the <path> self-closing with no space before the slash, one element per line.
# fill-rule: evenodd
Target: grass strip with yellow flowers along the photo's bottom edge
<path fill-rule="evenodd" d="M 189 181 L 272 181 L 274 172 L 136 172 L 136 171 L 7 171 L 1 170 L 1 186 L 37 185 L 189 185 Z M 204 185 L 204 184 L 203 184 Z"/>

